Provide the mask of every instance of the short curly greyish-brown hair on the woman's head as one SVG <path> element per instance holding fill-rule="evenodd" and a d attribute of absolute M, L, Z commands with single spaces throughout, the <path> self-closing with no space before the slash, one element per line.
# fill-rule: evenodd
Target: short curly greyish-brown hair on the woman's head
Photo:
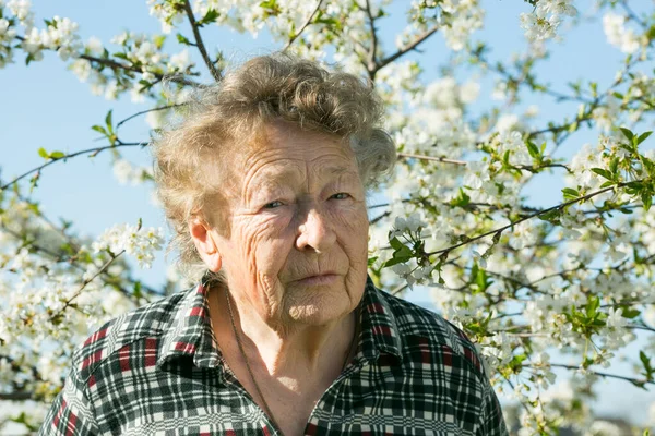
<path fill-rule="evenodd" d="M 151 144 L 157 195 L 174 232 L 168 251 L 177 249 L 178 270 L 192 282 L 203 276 L 210 283 L 225 282 L 222 272 L 207 271 L 188 221 L 221 196 L 216 174 L 227 172 L 230 156 L 264 124 L 283 120 L 349 141 L 370 190 L 396 159 L 394 143 L 380 126 L 382 116 L 379 96 L 357 76 L 284 53 L 253 58 L 221 83 L 199 89 L 180 119 Z"/>

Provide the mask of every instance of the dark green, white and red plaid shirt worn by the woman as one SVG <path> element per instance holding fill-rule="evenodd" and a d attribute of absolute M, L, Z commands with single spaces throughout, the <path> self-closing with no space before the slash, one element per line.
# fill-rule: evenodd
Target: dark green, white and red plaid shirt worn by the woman
<path fill-rule="evenodd" d="M 306 435 L 508 435 L 474 346 L 439 315 L 377 290 L 358 351 Z M 277 435 L 221 359 L 198 286 L 93 334 L 40 435 Z"/>

